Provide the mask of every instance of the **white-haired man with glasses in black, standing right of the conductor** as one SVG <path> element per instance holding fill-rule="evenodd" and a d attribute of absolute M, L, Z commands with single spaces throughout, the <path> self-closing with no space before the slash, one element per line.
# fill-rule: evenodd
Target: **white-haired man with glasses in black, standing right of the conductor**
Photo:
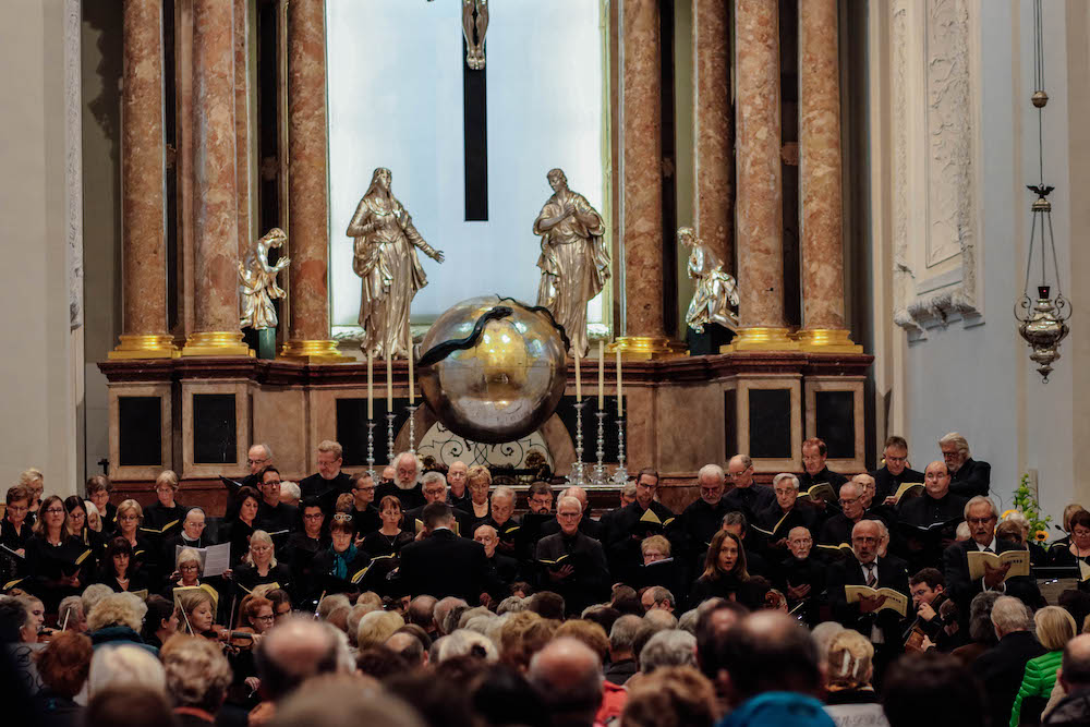
<path fill-rule="evenodd" d="M 602 544 L 579 532 L 583 507 L 577 498 L 566 496 L 557 500 L 556 517 L 560 532 L 537 541 L 538 585 L 543 591 L 554 591 L 564 596 L 569 614 L 580 614 L 584 607 L 608 599 L 609 569 Z M 541 562 L 556 562 L 565 556 L 572 562 L 556 566 Z"/>

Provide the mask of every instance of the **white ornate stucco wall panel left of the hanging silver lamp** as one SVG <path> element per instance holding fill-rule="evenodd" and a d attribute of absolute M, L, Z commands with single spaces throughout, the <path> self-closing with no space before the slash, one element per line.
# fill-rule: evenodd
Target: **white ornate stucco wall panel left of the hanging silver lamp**
<path fill-rule="evenodd" d="M 971 0 L 896 0 L 892 22 L 894 323 L 982 323 Z M 921 104 L 922 101 L 922 104 Z"/>

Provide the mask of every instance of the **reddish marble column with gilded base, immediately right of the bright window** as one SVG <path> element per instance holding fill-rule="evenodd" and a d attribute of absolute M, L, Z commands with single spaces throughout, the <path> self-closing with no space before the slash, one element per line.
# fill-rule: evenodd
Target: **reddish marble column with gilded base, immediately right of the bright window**
<path fill-rule="evenodd" d="M 676 349 L 663 311 L 663 113 L 658 0 L 625 0 L 620 43 L 625 205 L 625 336 L 616 348 L 650 359 Z"/>

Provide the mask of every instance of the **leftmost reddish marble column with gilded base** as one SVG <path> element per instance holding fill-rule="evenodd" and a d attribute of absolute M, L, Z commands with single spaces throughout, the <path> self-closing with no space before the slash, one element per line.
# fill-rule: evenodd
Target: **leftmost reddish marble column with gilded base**
<path fill-rule="evenodd" d="M 110 359 L 178 355 L 167 332 L 162 2 L 125 0 L 121 89 L 122 334 Z"/>

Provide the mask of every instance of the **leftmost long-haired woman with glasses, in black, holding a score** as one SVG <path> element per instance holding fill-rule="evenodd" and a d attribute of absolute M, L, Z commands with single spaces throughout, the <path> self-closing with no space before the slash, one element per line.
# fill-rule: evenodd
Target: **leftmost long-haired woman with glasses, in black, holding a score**
<path fill-rule="evenodd" d="M 76 595 L 87 582 L 94 562 L 89 548 L 69 532 L 64 501 L 50 495 L 38 509 L 34 535 L 26 543 L 27 591 L 41 598 L 47 613 L 57 613 L 64 596 Z"/>

